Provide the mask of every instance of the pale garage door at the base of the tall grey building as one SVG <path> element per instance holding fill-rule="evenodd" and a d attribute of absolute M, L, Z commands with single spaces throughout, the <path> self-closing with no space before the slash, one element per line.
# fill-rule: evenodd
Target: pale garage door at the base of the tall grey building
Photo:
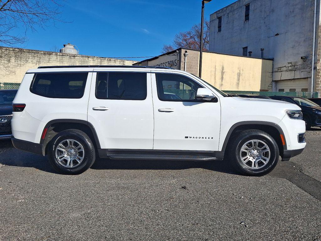
<path fill-rule="evenodd" d="M 308 79 L 276 81 L 276 91 L 280 92 L 308 92 Z"/>

